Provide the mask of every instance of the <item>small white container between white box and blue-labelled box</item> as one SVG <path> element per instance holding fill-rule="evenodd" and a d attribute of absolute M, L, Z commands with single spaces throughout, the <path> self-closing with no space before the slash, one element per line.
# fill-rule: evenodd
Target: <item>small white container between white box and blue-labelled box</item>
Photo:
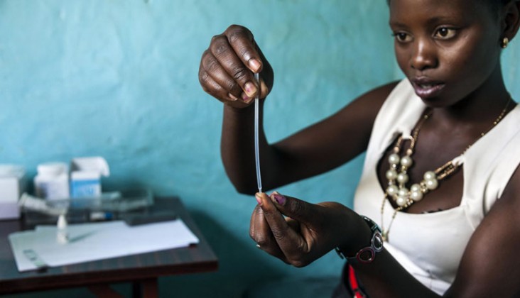
<path fill-rule="evenodd" d="M 43 199 L 67 199 L 69 197 L 68 166 L 65 162 L 45 162 L 38 165 L 34 177 L 36 196 Z"/>

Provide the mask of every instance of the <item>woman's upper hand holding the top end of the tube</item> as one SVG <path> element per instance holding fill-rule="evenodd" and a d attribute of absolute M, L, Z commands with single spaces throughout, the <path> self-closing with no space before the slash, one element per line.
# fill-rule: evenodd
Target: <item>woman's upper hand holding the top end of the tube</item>
<path fill-rule="evenodd" d="M 260 86 L 254 73 L 260 73 Z M 259 94 L 264 99 L 273 87 L 273 69 L 256 45 L 253 34 L 237 25 L 213 36 L 202 54 L 199 82 L 205 92 L 229 106 L 249 106 Z"/>

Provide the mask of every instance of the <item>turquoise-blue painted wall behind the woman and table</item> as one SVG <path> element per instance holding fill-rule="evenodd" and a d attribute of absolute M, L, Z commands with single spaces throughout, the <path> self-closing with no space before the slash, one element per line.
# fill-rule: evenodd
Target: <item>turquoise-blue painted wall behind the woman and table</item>
<path fill-rule="evenodd" d="M 251 28 L 276 73 L 266 133 L 278 140 L 367 89 L 401 78 L 382 0 L 0 0 L 0 162 L 36 165 L 102 155 L 107 190 L 141 185 L 178 195 L 220 258 L 220 270 L 161 278 L 161 297 L 239 297 L 289 277 L 339 275 L 330 253 L 296 269 L 249 239 L 256 201 L 237 194 L 220 161 L 222 104 L 197 70 L 212 35 Z M 519 45 L 504 73 L 520 97 Z M 253 158 L 253 157 L 251 157 Z M 361 158 L 278 189 L 351 204 Z M 121 286 L 121 291 L 127 291 Z M 82 289 L 47 293 L 87 295 Z M 40 296 L 45 293 L 27 294 Z"/>

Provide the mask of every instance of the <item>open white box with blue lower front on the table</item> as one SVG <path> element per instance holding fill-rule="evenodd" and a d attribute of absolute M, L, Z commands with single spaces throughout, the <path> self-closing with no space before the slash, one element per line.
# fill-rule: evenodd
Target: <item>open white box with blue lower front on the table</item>
<path fill-rule="evenodd" d="M 110 174 L 107 160 L 102 157 L 74 158 L 70 165 L 70 197 L 100 197 L 102 177 Z"/>

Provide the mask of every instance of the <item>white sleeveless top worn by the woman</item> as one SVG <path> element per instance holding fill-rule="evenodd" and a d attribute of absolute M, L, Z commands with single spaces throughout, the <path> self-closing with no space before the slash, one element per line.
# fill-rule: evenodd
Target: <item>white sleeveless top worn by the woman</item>
<path fill-rule="evenodd" d="M 377 163 L 396 136 L 410 136 L 426 109 L 408 80 L 389 94 L 377 115 L 363 173 L 354 196 L 354 210 L 381 225 L 384 191 L 377 178 Z M 423 285 L 443 294 L 455 279 L 467 242 L 520 163 L 520 105 L 477 140 L 463 162 L 464 186 L 460 206 L 428 214 L 397 212 L 386 250 Z M 384 225 L 394 208 L 386 201 Z"/>

